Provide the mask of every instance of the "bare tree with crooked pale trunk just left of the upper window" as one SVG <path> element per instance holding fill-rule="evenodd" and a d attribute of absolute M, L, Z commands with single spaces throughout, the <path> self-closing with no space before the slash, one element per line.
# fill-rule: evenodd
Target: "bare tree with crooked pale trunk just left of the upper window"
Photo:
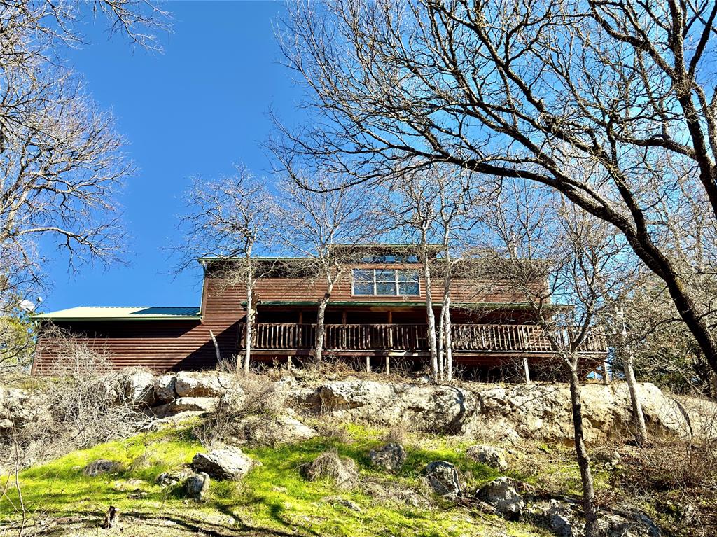
<path fill-rule="evenodd" d="M 298 181 L 297 181 L 298 179 Z M 331 293 L 356 262 L 358 244 L 375 239 L 379 219 L 365 188 L 343 186 L 329 176 L 314 178 L 320 190 L 299 186 L 294 177 L 280 185 L 275 207 L 277 241 L 293 255 L 293 270 L 326 285 L 318 300 L 315 353 L 321 361 L 326 331 L 324 320 Z"/>

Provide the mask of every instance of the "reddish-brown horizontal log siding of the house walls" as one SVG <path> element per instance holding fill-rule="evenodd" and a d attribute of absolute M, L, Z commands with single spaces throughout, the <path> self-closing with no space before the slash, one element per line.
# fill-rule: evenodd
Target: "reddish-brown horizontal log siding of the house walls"
<path fill-rule="evenodd" d="M 380 268 L 381 265 L 376 265 Z M 395 267 L 395 266 L 394 266 Z M 324 293 L 322 283 L 300 278 L 272 278 L 257 282 L 260 300 L 318 300 Z M 351 274 L 338 283 L 332 300 L 373 302 L 419 302 L 425 300 L 425 285 L 421 281 L 419 297 L 386 297 L 351 295 Z M 442 282 L 433 287 L 433 298 L 440 300 Z M 451 298 L 455 303 L 510 303 L 522 301 L 501 282 L 456 280 Z M 223 358 L 237 352 L 237 327 L 244 318 L 242 303 L 246 293 L 242 287 L 227 287 L 219 278 L 204 280 L 199 320 L 85 320 L 58 321 L 56 324 L 73 333 L 82 334 L 98 351 L 107 353 L 118 367 L 143 366 L 153 371 L 202 369 L 216 365 L 216 353 L 209 331 L 217 337 Z M 34 371 L 51 369 L 57 356 L 57 346 L 48 338 L 39 338 Z"/>

